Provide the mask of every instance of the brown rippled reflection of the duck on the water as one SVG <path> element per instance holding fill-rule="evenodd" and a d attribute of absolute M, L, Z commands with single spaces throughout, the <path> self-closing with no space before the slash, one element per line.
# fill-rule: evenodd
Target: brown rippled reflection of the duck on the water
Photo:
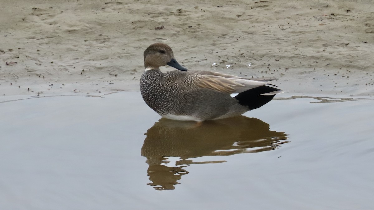
<path fill-rule="evenodd" d="M 269 130 L 269 124 L 256 118 L 238 116 L 223 120 L 175 121 L 161 118 L 148 129 L 141 148 L 147 157 L 148 176 L 156 190 L 175 189 L 177 180 L 188 174 L 191 158 L 227 156 L 277 149 L 287 143 L 284 132 Z"/>

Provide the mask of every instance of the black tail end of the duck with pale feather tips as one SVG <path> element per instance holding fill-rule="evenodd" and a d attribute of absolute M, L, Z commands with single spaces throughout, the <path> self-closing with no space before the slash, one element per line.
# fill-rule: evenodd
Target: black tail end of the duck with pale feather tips
<path fill-rule="evenodd" d="M 249 110 L 252 110 L 260 108 L 271 101 L 275 94 L 283 92 L 275 87 L 260 86 L 241 92 L 234 98 L 239 101 L 240 105 L 248 106 Z"/>

